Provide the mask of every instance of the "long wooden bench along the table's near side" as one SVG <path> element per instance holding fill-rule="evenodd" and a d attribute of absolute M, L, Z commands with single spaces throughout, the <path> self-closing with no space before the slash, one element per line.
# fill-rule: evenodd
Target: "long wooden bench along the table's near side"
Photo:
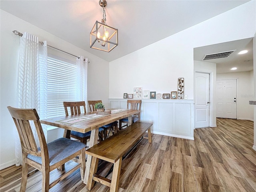
<path fill-rule="evenodd" d="M 90 174 L 86 188 L 91 190 L 95 181 L 110 187 L 110 192 L 118 191 L 122 156 L 148 131 L 148 142 L 151 143 L 152 123 L 135 122 L 127 128 L 120 130 L 106 140 L 86 150 L 92 156 Z M 145 137 L 144 137 L 145 138 Z M 114 163 L 112 180 L 96 175 L 99 159 Z"/>

